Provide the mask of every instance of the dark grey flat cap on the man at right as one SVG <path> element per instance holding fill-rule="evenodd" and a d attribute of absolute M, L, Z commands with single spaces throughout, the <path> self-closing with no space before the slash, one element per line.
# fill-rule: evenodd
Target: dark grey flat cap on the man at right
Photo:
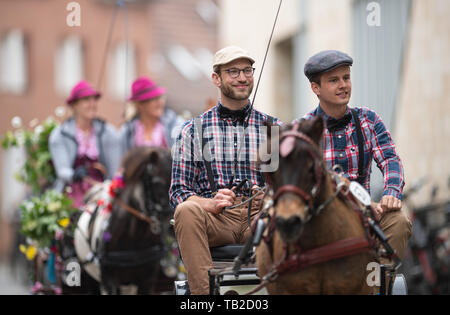
<path fill-rule="evenodd" d="M 353 65 L 352 57 L 341 51 L 325 50 L 309 58 L 305 64 L 305 75 L 311 80 L 316 74 L 328 72 L 343 65 Z"/>

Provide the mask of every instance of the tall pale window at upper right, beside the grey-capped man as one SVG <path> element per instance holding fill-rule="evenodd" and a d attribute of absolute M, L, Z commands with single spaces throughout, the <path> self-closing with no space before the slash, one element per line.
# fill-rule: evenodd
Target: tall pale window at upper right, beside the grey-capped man
<path fill-rule="evenodd" d="M 371 11 L 374 4 L 379 11 Z M 410 5 L 410 0 L 353 3 L 352 104 L 375 110 L 389 129 L 395 121 Z M 375 13 L 379 26 L 368 23 Z"/>

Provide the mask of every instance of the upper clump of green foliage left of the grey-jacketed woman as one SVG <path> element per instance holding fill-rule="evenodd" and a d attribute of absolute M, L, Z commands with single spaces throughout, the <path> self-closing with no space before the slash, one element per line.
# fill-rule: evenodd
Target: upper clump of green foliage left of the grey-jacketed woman
<path fill-rule="evenodd" d="M 40 194 L 44 187 L 56 179 L 48 139 L 57 126 L 58 122 L 49 118 L 34 130 L 18 129 L 14 133 L 7 131 L 2 139 L 4 149 L 22 145 L 25 148 L 26 161 L 16 173 L 16 179 L 29 186 L 34 195 Z"/>

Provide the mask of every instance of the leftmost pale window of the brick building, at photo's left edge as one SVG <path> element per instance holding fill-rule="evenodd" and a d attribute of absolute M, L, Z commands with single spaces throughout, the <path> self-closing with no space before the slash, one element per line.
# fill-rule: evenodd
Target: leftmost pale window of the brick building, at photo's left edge
<path fill-rule="evenodd" d="M 0 43 L 0 89 L 2 92 L 22 94 L 27 88 L 27 53 L 25 37 L 20 30 L 12 30 Z"/>

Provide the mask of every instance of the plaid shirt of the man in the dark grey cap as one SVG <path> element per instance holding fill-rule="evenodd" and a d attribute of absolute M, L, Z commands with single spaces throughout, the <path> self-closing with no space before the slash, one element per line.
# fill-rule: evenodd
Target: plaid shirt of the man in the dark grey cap
<path fill-rule="evenodd" d="M 358 112 L 364 137 L 364 188 L 370 192 L 370 172 L 373 158 L 384 174 L 383 196 L 389 195 L 401 199 L 405 185 L 403 165 L 395 151 L 391 134 L 374 111 L 368 108 L 355 109 Z M 347 108 L 346 114 L 348 113 L 350 113 L 349 108 Z M 307 113 L 303 118 L 311 119 L 317 115 L 322 115 L 325 121 L 330 118 L 320 106 Z M 333 133 L 325 129 L 322 145 L 327 166 L 331 169 L 334 165 L 339 164 L 347 178 L 357 180 L 358 137 L 353 117 L 345 129 Z"/>

